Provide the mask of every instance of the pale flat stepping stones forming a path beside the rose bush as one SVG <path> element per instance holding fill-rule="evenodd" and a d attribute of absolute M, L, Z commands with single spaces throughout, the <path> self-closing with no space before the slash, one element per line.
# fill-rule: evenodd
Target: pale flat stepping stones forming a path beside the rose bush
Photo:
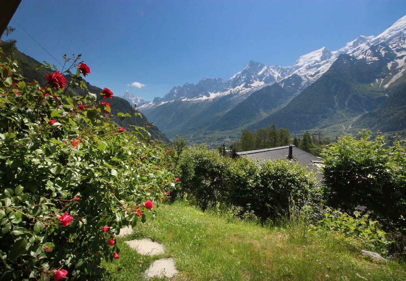
<path fill-rule="evenodd" d="M 120 229 L 119 237 L 123 237 L 127 234 L 132 233 L 132 228 L 123 227 Z M 164 245 L 153 242 L 151 239 L 134 239 L 125 241 L 125 243 L 130 246 L 131 249 L 137 251 L 137 253 L 141 255 L 160 255 L 165 252 Z M 151 277 L 158 277 L 158 278 L 172 278 L 178 274 L 178 271 L 175 268 L 175 260 L 172 258 L 162 258 L 157 259 L 154 261 L 151 266 L 145 270 L 145 279 L 149 280 Z"/>

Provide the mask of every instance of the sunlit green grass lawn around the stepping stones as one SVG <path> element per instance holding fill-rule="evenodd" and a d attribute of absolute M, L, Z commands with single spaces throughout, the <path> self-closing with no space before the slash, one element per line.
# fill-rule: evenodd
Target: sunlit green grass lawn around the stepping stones
<path fill-rule="evenodd" d="M 317 235 L 294 240 L 280 229 L 203 213 L 183 202 L 161 204 L 133 234 L 118 238 L 120 259 L 104 263 L 112 280 L 143 280 L 149 265 L 173 257 L 175 280 L 406 280 L 406 265 L 381 265 L 350 251 L 338 240 Z M 145 257 L 125 240 L 149 237 L 166 247 Z"/>

